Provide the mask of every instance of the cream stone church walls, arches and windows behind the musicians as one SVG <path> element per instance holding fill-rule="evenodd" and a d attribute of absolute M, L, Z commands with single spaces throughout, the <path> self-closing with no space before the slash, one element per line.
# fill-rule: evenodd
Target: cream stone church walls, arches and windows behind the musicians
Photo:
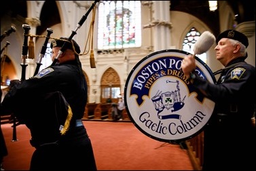
<path fill-rule="evenodd" d="M 204 31 L 215 36 L 226 29 L 244 33 L 249 37 L 246 60 L 255 66 L 255 7 L 250 3 L 215 1 L 217 6 L 211 11 L 208 1 L 97 1 L 92 9 L 95 2 L 7 1 L 1 10 L 1 35 L 11 26 L 16 31 L 1 41 L 1 88 L 20 79 L 23 24 L 31 26 L 29 43 L 34 43 L 34 53 L 26 58 L 26 79 L 37 67 L 48 28 L 53 31 L 50 41 L 75 31 L 73 39 L 81 48 L 79 58 L 90 103 L 105 102 L 109 96 L 117 102 L 130 71 L 141 59 L 160 50 L 193 53 L 193 45 Z M 85 22 L 77 26 L 82 17 Z M 222 67 L 215 60 L 214 48 L 199 56 L 213 72 Z M 51 64 L 50 56 L 48 47 L 40 70 Z M 91 68 L 90 56 L 94 56 L 96 68 Z"/>

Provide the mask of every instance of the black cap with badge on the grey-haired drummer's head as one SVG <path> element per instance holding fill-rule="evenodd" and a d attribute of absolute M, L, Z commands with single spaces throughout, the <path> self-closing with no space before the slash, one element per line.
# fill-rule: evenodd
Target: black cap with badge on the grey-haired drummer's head
<path fill-rule="evenodd" d="M 216 39 L 216 43 L 218 43 L 219 40 L 222 38 L 228 38 L 228 39 L 234 39 L 234 40 L 240 41 L 243 45 L 245 45 L 246 48 L 249 45 L 249 41 L 246 35 L 240 33 L 239 31 L 235 31 L 235 30 L 224 31 L 223 33 L 218 35 Z"/>

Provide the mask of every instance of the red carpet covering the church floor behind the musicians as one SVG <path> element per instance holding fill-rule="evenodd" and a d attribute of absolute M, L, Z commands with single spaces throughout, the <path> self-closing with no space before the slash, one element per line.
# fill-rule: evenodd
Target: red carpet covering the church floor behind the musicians
<path fill-rule="evenodd" d="M 84 121 L 94 149 L 98 170 L 193 170 L 187 150 L 153 140 L 131 122 Z M 12 124 L 1 125 L 8 155 L 5 170 L 29 170 L 34 148 L 30 132 L 17 126 L 18 141 L 12 142 Z"/>

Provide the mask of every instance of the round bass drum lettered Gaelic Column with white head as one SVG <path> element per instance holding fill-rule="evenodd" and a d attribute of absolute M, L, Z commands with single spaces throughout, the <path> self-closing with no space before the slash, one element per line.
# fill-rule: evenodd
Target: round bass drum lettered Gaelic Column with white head
<path fill-rule="evenodd" d="M 179 143 L 196 136 L 210 119 L 215 102 L 189 84 L 181 70 L 188 52 L 162 50 L 139 61 L 124 88 L 126 111 L 143 134 L 163 142 Z M 208 66 L 196 57 L 196 72 L 215 83 Z"/>

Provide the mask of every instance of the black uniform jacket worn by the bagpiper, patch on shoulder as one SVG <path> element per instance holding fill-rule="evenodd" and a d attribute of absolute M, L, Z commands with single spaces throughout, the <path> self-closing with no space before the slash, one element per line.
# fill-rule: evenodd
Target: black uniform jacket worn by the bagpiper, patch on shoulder
<path fill-rule="evenodd" d="M 1 110 L 12 111 L 26 124 L 32 139 L 39 144 L 60 138 L 71 108 L 71 126 L 81 119 L 87 102 L 87 85 L 76 60 L 56 64 L 34 77 L 15 84 L 5 95 Z"/>

